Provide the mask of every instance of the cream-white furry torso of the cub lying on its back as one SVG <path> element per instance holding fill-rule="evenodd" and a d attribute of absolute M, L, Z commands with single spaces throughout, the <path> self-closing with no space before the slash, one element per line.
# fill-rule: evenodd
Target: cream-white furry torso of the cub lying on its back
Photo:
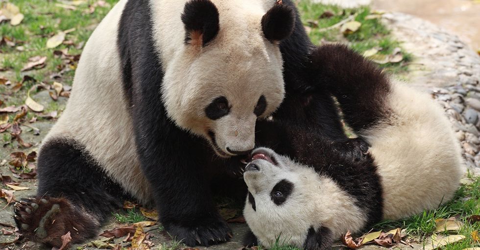
<path fill-rule="evenodd" d="M 392 116 L 361 136 L 378 165 L 384 218 L 399 219 L 450 200 L 462 176 L 461 151 L 441 107 L 427 94 L 397 83 Z"/>

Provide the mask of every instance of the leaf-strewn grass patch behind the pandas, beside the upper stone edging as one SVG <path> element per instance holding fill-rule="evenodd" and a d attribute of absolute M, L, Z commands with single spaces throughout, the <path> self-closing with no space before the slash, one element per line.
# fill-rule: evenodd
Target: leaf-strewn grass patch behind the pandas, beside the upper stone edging
<path fill-rule="evenodd" d="M 381 48 L 378 54 L 390 55 L 395 48 L 401 48 L 400 43 L 390 36 L 390 31 L 383 25 L 378 18 L 367 18 L 371 15 L 368 6 L 353 9 L 343 9 L 336 5 L 326 5 L 312 3 L 311 0 L 300 0 L 298 9 L 302 15 L 302 21 L 305 26 L 310 26 L 309 37 L 315 45 L 325 42 L 339 42 L 348 44 L 353 50 L 363 53 L 372 48 Z M 334 15 L 329 18 L 320 18 L 325 13 L 330 12 Z M 355 17 L 354 20 L 361 23 L 359 30 L 351 34 L 342 34 L 340 27 L 331 27 L 340 23 L 349 17 Z M 353 21 L 353 20 L 352 20 Z M 315 24 L 312 25 L 312 22 Z M 407 71 L 407 64 L 412 56 L 407 51 L 401 50 L 403 59 L 398 63 L 386 63 L 379 65 L 385 71 L 398 74 Z"/>

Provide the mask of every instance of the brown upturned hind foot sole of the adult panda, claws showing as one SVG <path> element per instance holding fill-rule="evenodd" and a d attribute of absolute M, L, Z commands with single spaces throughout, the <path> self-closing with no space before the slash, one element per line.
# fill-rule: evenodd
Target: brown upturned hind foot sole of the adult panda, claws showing
<path fill-rule="evenodd" d="M 84 236 L 80 236 L 80 233 L 84 232 L 79 230 L 85 229 L 80 224 L 85 221 L 77 222 L 79 225 L 72 222 L 87 218 L 79 217 L 70 201 L 64 198 L 23 199 L 15 203 L 14 209 L 14 219 L 20 233 L 31 241 L 60 247 L 62 246 L 61 236 L 69 231 L 72 242 L 84 239 Z"/>

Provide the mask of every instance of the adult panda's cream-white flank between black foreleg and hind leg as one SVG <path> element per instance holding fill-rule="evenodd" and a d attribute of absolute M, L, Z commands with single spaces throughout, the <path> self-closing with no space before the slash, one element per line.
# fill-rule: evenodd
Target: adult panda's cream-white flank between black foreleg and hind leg
<path fill-rule="evenodd" d="M 126 0 L 120 0 L 85 45 L 65 111 L 49 138 L 78 141 L 126 191 L 151 199 L 135 147 L 133 126 L 122 90 L 117 30 Z"/>

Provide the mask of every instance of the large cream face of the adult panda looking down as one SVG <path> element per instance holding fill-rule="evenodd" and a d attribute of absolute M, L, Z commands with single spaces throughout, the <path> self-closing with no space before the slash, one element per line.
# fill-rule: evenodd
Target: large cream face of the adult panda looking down
<path fill-rule="evenodd" d="M 279 43 L 262 28 L 264 2 L 234 2 L 218 1 L 219 29 L 208 43 L 200 31 L 187 30 L 189 42 L 162 51 L 168 116 L 221 157 L 254 148 L 256 120 L 275 111 L 285 92 Z"/>

